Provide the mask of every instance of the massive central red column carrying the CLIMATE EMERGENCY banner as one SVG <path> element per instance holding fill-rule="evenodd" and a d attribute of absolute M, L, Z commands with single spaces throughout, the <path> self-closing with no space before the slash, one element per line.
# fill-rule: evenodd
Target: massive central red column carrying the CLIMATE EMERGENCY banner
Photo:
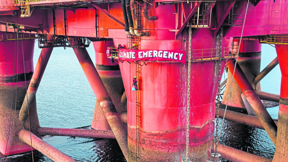
<path fill-rule="evenodd" d="M 203 32 L 208 30 L 203 29 Z M 208 48 L 216 49 L 215 38 L 208 37 L 199 41 L 197 39 L 199 37 L 192 39 L 193 49 L 200 49 L 200 51 Z M 223 39 L 223 47 L 228 47 L 231 41 Z M 141 40 L 141 49 L 180 50 L 184 44 L 182 40 L 165 40 L 165 42 L 150 40 L 147 44 L 145 40 Z M 141 103 L 139 125 L 136 119 L 137 92 L 132 91 L 132 79 L 137 76 L 138 64 L 141 64 L 139 65 L 140 77 L 137 78 L 140 94 L 138 98 Z M 138 62 L 137 64 L 119 62 L 127 94 L 130 161 L 136 162 L 137 158 L 142 162 L 179 161 L 180 156 L 185 157 L 187 64 L 187 62 L 185 65 L 172 62 Z M 191 63 L 189 157 L 193 162 L 207 160 L 207 150 L 213 147 L 218 78 L 216 65 L 216 60 Z M 140 137 L 136 135 L 138 126 Z"/>

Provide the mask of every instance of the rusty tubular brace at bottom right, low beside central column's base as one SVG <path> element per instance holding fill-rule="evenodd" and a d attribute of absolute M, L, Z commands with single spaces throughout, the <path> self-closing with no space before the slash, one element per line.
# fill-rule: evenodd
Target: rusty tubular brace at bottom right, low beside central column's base
<path fill-rule="evenodd" d="M 221 154 L 221 157 L 223 159 L 226 159 L 229 161 L 237 161 L 237 162 L 271 162 L 272 161 L 272 159 L 253 155 L 248 152 L 234 149 L 232 147 L 225 146 L 222 144 L 218 144 L 217 152 Z"/>

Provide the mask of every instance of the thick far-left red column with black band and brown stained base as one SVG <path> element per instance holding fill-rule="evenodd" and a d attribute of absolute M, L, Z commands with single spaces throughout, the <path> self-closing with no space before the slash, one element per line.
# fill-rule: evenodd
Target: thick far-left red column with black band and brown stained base
<path fill-rule="evenodd" d="M 17 115 L 19 114 L 22 102 L 26 95 L 25 84 L 28 87 L 33 74 L 34 39 L 24 39 L 19 41 L 7 40 L 7 34 L 0 34 L 3 37 L 3 41 L 0 42 L 0 152 L 3 155 L 11 155 L 31 150 L 31 146 L 25 145 L 25 143 L 23 143 L 17 137 L 18 132 L 23 129 L 23 123 L 19 121 L 17 116 L 15 118 L 13 114 L 14 111 L 16 111 Z M 10 33 L 8 33 L 8 35 L 9 34 Z M 9 38 L 13 38 L 11 36 L 12 33 L 9 35 Z M 15 36 L 16 33 L 14 33 L 14 37 Z M 21 41 L 23 41 L 26 82 L 24 77 L 25 75 Z M 10 117 L 11 113 L 12 117 Z M 31 132 L 36 132 L 37 128 L 39 127 L 39 120 L 36 110 L 36 98 L 34 98 L 32 104 L 29 105 L 29 117 L 31 123 Z M 28 120 L 25 120 L 24 127 L 25 129 L 29 129 Z"/>

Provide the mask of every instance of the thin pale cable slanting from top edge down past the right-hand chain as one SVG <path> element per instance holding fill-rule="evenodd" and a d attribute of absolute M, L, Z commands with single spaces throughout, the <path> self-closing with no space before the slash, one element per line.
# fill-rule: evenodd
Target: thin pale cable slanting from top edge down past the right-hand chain
<path fill-rule="evenodd" d="M 245 24 L 246 15 L 247 15 L 247 10 L 248 10 L 248 4 L 249 4 L 249 0 L 248 0 L 248 2 L 247 2 L 247 6 L 246 6 L 246 12 L 245 12 L 245 17 L 244 17 L 244 21 L 243 21 L 243 27 L 242 27 L 241 37 L 240 37 L 240 41 L 239 41 L 239 47 L 240 47 L 241 41 L 242 41 L 244 24 Z M 233 79 L 234 79 L 234 74 L 235 74 L 237 59 L 238 59 L 238 56 L 239 56 L 239 50 L 240 50 L 240 48 L 238 48 L 238 51 L 237 51 L 236 63 L 235 63 L 234 70 L 233 70 L 232 81 L 231 81 L 231 85 L 230 85 L 230 89 L 229 89 L 229 93 L 228 93 L 228 98 L 227 98 L 227 104 L 228 104 L 229 97 L 230 97 L 230 92 L 231 92 L 232 83 L 233 83 Z M 226 114 L 226 110 L 227 110 L 227 104 L 226 104 L 226 107 L 225 107 L 225 112 L 224 112 L 224 116 L 223 116 L 223 120 L 222 120 L 222 125 L 221 125 L 221 128 L 220 128 L 219 137 L 218 137 L 218 139 L 217 139 L 217 144 L 219 143 L 219 140 L 220 140 L 220 137 L 221 137 L 222 127 L 223 127 L 224 122 L 225 122 L 224 119 L 225 119 L 225 114 Z M 216 153 L 217 153 L 217 149 L 218 149 L 218 148 L 215 147 L 215 152 L 216 152 Z M 215 153 L 215 154 L 216 154 L 216 153 Z"/>

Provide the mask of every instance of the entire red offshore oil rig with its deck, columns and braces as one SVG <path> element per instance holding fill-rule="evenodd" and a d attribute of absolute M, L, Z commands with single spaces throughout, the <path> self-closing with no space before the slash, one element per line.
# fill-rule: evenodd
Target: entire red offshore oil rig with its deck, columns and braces
<path fill-rule="evenodd" d="M 287 161 L 287 11 L 286 0 L 2 0 L 1 156 L 36 149 L 76 161 L 42 140 L 55 135 L 116 138 L 128 162 Z M 262 43 L 275 44 L 278 57 L 260 72 Z M 55 47 L 73 48 L 97 98 L 91 130 L 40 127 L 35 94 Z M 278 63 L 280 95 L 262 92 Z M 224 68 L 222 103 L 249 115 L 219 109 Z M 278 122 L 261 99 L 279 102 Z M 214 142 L 224 115 L 265 129 L 273 160 Z"/>

